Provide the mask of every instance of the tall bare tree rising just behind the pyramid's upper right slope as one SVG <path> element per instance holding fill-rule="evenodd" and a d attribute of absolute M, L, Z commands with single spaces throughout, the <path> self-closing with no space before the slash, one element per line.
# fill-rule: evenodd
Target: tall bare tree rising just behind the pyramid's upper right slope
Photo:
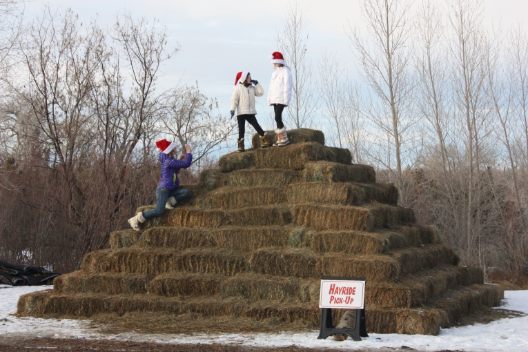
<path fill-rule="evenodd" d="M 405 116 L 413 87 L 409 75 L 412 52 L 408 47 L 411 34 L 409 9 L 407 1 L 365 0 L 361 10 L 368 28 L 368 40 L 364 39 L 358 27 L 349 27 L 349 38 L 362 66 L 362 77 L 389 109 L 390 119 L 384 118 L 385 114 L 370 116 L 373 123 L 393 139 L 396 181 L 400 190 L 404 184 L 402 132 L 413 122 Z"/>

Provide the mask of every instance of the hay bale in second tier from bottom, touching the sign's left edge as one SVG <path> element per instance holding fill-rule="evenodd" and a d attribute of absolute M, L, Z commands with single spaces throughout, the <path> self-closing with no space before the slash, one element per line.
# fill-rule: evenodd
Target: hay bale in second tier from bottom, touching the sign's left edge
<path fill-rule="evenodd" d="M 221 294 L 224 298 L 243 297 L 252 302 L 311 302 L 313 292 L 318 291 L 319 286 L 319 280 L 244 273 L 224 281 Z"/>

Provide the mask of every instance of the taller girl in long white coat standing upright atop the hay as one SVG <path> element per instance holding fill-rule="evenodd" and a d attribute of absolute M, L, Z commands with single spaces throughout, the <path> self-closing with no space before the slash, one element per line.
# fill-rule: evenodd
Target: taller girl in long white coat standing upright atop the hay
<path fill-rule="evenodd" d="M 271 84 L 268 92 L 268 105 L 275 110 L 275 122 L 277 122 L 277 143 L 273 146 L 286 146 L 290 143 L 286 128 L 282 123 L 282 110 L 290 104 L 292 81 L 291 70 L 284 62 L 284 57 L 278 51 L 271 54 L 271 63 L 275 66 L 271 74 Z"/>

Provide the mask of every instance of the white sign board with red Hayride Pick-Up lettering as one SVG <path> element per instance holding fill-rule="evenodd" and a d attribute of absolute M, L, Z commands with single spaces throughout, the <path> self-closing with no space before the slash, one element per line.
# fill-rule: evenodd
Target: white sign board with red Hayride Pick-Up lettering
<path fill-rule="evenodd" d="M 319 308 L 363 309 L 365 282 L 321 280 Z"/>

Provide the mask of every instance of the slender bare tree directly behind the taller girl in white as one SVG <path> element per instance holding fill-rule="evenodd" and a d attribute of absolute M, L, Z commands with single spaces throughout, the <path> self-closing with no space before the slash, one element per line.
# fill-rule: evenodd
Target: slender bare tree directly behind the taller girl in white
<path fill-rule="evenodd" d="M 284 30 L 277 34 L 277 46 L 285 54 L 286 63 L 292 71 L 293 91 L 287 113 L 296 128 L 310 127 L 315 112 L 313 75 L 307 57 L 308 37 L 306 12 L 303 12 L 297 1 L 289 3 L 284 19 Z"/>

